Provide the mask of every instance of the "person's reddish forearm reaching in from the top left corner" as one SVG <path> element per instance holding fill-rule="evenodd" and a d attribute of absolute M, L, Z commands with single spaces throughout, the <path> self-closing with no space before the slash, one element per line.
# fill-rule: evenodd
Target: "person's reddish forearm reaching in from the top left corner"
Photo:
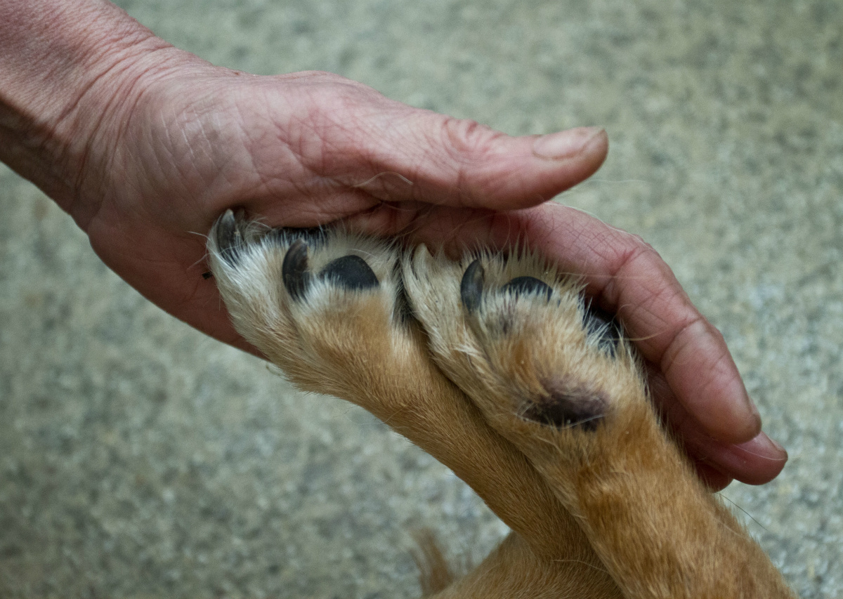
<path fill-rule="evenodd" d="M 0 160 L 84 221 L 83 179 L 108 152 L 94 138 L 115 139 L 100 130 L 172 49 L 103 0 L 0 0 L 0 14 Z"/>

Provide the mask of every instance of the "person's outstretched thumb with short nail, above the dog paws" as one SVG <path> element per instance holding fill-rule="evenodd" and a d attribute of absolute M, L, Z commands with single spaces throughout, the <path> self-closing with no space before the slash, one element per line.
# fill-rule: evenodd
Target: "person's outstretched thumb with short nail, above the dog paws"
<path fill-rule="evenodd" d="M 534 206 L 587 179 L 608 152 L 600 128 L 507 136 L 357 86 L 351 94 L 350 86 L 341 86 L 340 102 L 329 94 L 334 102 L 319 107 L 319 168 L 379 200 L 491 210 Z"/>

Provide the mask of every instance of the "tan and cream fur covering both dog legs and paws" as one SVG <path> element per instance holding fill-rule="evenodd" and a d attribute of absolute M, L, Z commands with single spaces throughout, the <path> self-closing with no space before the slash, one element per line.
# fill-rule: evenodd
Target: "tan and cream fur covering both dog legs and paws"
<path fill-rule="evenodd" d="M 239 332 L 299 387 L 361 405 L 431 453 L 513 529 L 445 588 L 449 570 L 423 543 L 426 591 L 792 596 L 659 429 L 631 346 L 606 350 L 588 334 L 579 287 L 552 265 L 483 256 L 488 292 L 472 312 L 460 299 L 468 257 L 326 232 L 307 243 L 312 276 L 293 297 L 282 264 L 294 237 L 223 219 L 210 235 L 210 265 Z M 365 260 L 376 286 L 317 275 L 349 254 Z M 524 275 L 552 287 L 550 300 L 497 291 Z M 417 319 L 396 306 L 402 287 Z M 587 426 L 530 420 L 531 406 L 549 396 L 605 409 Z"/>

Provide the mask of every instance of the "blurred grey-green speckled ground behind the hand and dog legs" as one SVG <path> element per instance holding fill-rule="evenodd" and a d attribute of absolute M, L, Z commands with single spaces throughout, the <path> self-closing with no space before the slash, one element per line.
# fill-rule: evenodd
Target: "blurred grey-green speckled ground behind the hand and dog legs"
<path fill-rule="evenodd" d="M 726 495 L 843 597 L 843 5 L 123 0 L 260 73 L 324 69 L 509 133 L 606 126 L 560 200 L 640 233 L 722 329 L 791 462 Z M 357 409 L 177 323 L 0 169 L 0 595 L 415 596 L 408 531 L 504 530 Z"/>

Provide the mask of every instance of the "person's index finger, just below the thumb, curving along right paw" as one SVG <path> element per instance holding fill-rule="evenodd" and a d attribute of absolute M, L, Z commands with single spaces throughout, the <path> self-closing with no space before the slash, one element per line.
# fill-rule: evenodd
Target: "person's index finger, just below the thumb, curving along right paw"
<path fill-rule="evenodd" d="M 642 356 L 708 436 L 734 444 L 759 434 L 760 416 L 722 335 L 641 239 L 553 203 L 504 214 L 440 208 L 415 225 L 414 238 L 435 245 L 526 240 L 563 270 L 583 275 L 587 292 L 618 313 Z"/>

